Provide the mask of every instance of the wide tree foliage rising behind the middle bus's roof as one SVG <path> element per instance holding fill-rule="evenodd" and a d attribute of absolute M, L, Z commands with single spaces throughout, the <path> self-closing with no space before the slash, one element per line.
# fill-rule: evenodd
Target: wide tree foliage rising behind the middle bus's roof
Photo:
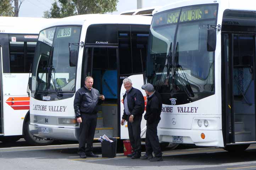
<path fill-rule="evenodd" d="M 81 14 L 116 11 L 118 0 L 55 0 L 44 18 L 63 18 Z"/>

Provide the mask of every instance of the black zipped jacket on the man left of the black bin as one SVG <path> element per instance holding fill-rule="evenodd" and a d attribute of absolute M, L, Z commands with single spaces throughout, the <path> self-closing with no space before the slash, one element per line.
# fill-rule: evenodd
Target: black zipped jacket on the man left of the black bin
<path fill-rule="evenodd" d="M 92 88 L 88 90 L 85 86 L 78 89 L 74 99 L 74 110 L 76 117 L 81 117 L 81 113 L 96 114 L 97 104 L 101 104 L 99 100 L 99 91 Z"/>

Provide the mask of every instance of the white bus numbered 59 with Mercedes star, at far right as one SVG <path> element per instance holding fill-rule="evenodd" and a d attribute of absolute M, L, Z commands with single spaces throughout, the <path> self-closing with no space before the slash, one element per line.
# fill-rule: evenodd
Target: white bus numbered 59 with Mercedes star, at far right
<path fill-rule="evenodd" d="M 160 141 L 256 143 L 255 5 L 183 0 L 153 13 L 145 77 L 162 96 Z"/>

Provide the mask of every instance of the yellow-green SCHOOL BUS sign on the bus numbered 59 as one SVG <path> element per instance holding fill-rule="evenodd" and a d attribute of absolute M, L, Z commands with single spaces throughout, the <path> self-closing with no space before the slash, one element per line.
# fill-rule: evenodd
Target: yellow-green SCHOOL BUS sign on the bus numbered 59
<path fill-rule="evenodd" d="M 177 23 L 179 19 L 179 12 L 168 13 L 167 24 Z M 202 19 L 202 10 L 188 10 L 180 13 L 180 22 L 192 21 Z"/>

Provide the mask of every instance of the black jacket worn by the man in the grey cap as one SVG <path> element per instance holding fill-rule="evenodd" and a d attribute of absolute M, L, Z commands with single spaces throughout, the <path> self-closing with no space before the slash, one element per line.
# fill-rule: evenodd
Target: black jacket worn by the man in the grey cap
<path fill-rule="evenodd" d="M 147 120 L 147 124 L 152 124 L 154 121 L 160 121 L 162 111 L 162 98 L 158 92 L 155 92 L 151 97 L 148 97 L 146 106 L 146 114 L 144 119 Z"/>

